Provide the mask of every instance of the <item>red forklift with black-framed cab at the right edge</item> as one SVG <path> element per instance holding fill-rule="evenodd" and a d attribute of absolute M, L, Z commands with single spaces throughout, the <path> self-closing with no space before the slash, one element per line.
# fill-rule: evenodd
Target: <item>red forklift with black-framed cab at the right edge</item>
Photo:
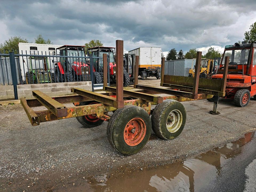
<path fill-rule="evenodd" d="M 251 97 L 256 99 L 256 43 L 225 46 L 221 64 L 213 79 L 222 79 L 226 56 L 229 56 L 229 66 L 224 98 L 233 99 L 235 105 L 245 107 Z M 214 98 L 207 100 L 214 101 Z"/>

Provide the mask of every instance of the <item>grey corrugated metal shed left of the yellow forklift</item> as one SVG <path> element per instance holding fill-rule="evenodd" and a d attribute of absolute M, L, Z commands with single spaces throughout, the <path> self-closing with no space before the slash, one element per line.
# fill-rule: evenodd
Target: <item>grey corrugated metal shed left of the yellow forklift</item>
<path fill-rule="evenodd" d="M 165 75 L 189 76 L 193 59 L 165 61 Z"/>

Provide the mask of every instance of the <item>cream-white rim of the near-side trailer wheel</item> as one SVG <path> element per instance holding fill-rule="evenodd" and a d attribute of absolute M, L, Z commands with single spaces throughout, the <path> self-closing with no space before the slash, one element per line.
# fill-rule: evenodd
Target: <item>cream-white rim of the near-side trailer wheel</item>
<path fill-rule="evenodd" d="M 170 133 L 175 133 L 182 125 L 182 113 L 178 109 L 172 110 L 166 119 L 166 128 Z"/>

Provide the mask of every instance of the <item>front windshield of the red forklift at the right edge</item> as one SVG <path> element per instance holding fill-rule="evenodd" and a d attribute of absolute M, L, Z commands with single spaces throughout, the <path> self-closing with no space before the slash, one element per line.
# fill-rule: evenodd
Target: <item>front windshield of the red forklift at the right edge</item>
<path fill-rule="evenodd" d="M 247 65 L 250 49 L 225 50 L 221 65 L 224 65 L 225 57 L 229 56 L 229 65 Z"/>

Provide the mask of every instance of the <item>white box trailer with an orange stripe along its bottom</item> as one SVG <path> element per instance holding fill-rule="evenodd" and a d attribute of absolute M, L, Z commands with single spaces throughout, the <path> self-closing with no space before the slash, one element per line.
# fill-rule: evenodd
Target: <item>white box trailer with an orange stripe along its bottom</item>
<path fill-rule="evenodd" d="M 139 56 L 139 73 L 142 80 L 147 77 L 161 78 L 161 47 L 139 47 L 129 54 Z"/>

